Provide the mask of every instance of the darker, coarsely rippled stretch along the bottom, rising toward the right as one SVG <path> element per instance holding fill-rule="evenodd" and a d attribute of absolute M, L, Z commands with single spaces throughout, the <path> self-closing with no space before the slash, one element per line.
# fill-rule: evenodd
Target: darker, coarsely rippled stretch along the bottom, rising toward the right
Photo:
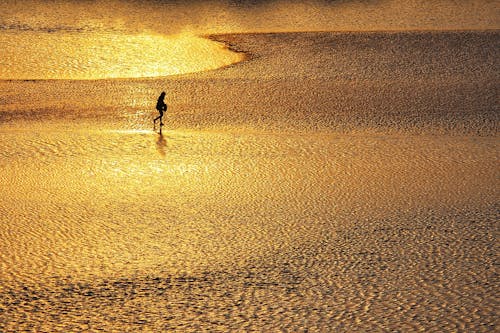
<path fill-rule="evenodd" d="M 488 224 L 498 218 L 496 209 L 440 217 L 423 210 L 341 226 L 336 237 L 269 253 L 229 271 L 4 285 L 1 327 L 489 332 L 497 304 L 496 250 Z"/>

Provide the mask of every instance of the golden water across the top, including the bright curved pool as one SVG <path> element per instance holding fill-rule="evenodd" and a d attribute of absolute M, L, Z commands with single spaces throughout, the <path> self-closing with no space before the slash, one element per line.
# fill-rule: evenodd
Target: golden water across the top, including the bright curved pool
<path fill-rule="evenodd" d="M 243 60 L 200 35 L 304 31 L 497 29 L 474 0 L 2 2 L 0 79 L 159 77 Z"/>

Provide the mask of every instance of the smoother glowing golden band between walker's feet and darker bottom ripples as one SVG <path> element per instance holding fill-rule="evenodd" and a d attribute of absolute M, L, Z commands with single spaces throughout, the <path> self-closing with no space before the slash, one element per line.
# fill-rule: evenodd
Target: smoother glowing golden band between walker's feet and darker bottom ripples
<path fill-rule="evenodd" d="M 497 194 L 490 138 L 50 128 L 1 138 L 2 217 L 16 221 L 2 233 L 9 280 L 220 267 L 317 241 L 341 213 L 489 206 Z"/>

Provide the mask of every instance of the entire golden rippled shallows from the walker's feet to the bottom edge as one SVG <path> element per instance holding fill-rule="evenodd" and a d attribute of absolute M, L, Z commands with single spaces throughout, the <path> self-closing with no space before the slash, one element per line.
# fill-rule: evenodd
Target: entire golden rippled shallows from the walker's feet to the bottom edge
<path fill-rule="evenodd" d="M 492 324 L 496 138 L 46 125 L 0 142 L 5 331 Z"/>

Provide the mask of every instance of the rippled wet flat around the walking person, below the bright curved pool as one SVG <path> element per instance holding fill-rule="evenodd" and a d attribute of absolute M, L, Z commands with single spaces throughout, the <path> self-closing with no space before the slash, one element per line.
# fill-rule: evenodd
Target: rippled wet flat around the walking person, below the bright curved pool
<path fill-rule="evenodd" d="M 0 331 L 495 330 L 498 33 L 214 38 L 0 82 Z"/>

